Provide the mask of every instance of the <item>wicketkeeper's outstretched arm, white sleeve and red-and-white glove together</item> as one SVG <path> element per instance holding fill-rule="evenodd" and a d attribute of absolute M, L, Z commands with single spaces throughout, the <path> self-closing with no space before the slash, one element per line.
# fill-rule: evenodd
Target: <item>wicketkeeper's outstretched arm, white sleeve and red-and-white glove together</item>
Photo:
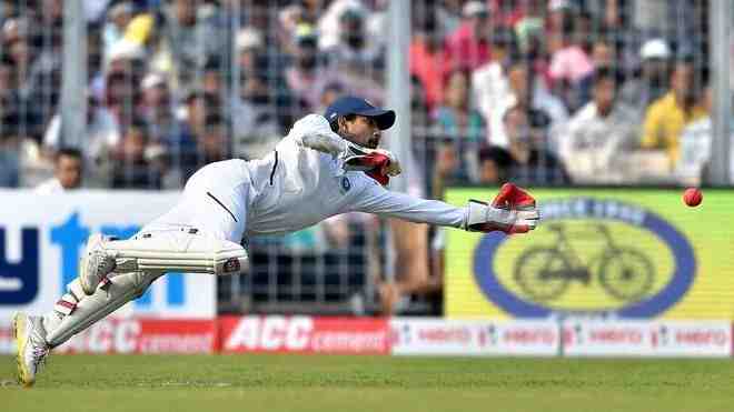
<path fill-rule="evenodd" d="M 355 204 L 355 210 L 468 231 L 499 230 L 506 233 L 533 230 L 539 218 L 535 200 L 513 184 L 505 184 L 492 204 L 473 200 L 464 208 L 391 192 L 378 184 L 368 184 Z"/>

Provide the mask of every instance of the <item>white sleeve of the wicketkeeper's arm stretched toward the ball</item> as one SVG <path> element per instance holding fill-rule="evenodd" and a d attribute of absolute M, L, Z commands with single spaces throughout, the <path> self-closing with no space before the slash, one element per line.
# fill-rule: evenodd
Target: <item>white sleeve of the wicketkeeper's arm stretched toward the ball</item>
<path fill-rule="evenodd" d="M 466 208 L 456 208 L 438 200 L 391 192 L 373 181 L 367 182 L 365 190 L 359 193 L 354 210 L 416 223 L 460 229 L 466 225 L 467 217 Z"/>

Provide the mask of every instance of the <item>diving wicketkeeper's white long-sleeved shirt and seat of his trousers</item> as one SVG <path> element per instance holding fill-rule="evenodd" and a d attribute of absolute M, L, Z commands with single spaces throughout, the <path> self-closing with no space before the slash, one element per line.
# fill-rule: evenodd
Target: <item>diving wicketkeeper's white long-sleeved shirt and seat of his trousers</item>
<path fill-rule="evenodd" d="M 215 210 L 222 214 L 201 219 L 241 227 L 220 230 L 227 238 L 288 233 L 353 211 L 445 227 L 465 225 L 466 208 L 390 192 L 361 171 L 345 172 L 341 159 L 335 155 L 336 147 L 343 144 L 324 117 L 309 114 L 262 159 L 206 165 L 191 177 L 185 197 L 208 197 L 208 201 L 220 203 Z"/>

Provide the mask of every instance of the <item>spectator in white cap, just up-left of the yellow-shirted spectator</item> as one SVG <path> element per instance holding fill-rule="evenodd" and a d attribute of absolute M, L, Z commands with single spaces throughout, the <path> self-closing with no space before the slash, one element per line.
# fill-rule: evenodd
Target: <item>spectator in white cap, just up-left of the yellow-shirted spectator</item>
<path fill-rule="evenodd" d="M 647 107 L 667 92 L 671 50 L 663 39 L 646 41 L 639 49 L 641 68 L 622 88 L 622 101 L 636 111 Z"/>

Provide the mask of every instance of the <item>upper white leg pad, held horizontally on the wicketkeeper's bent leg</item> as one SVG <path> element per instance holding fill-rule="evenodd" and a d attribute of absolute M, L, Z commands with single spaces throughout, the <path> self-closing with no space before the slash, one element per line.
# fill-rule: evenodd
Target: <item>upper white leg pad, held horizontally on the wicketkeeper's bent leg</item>
<path fill-rule="evenodd" d="M 247 267 L 247 252 L 238 243 L 184 231 L 142 232 L 105 242 L 102 249 L 116 259 L 116 272 L 237 274 Z"/>

